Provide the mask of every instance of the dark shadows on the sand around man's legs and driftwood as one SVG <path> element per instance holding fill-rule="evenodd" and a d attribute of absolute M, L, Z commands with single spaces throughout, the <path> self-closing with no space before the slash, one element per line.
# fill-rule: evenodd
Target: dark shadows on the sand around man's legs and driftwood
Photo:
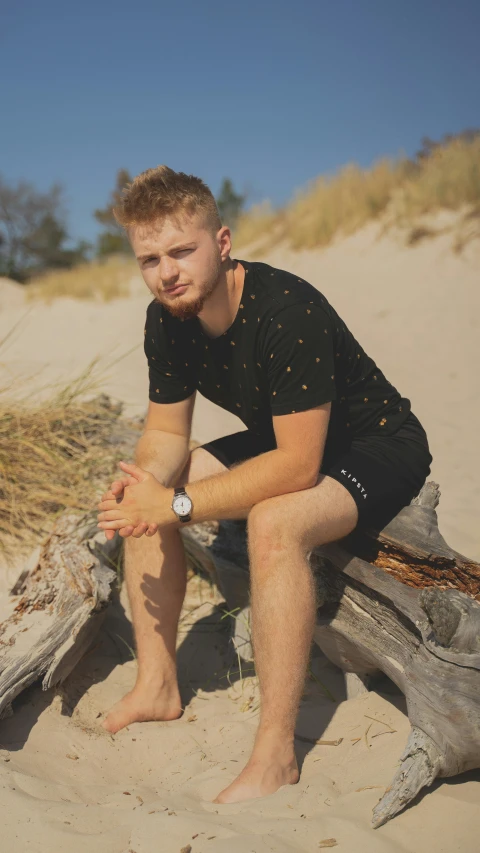
<path fill-rule="evenodd" d="M 238 665 L 231 640 L 232 620 L 225 616 L 226 604 L 209 604 L 207 615 L 197 617 L 184 627 L 180 623 L 177 666 L 185 710 L 198 690 L 208 701 L 205 694 L 229 689 L 243 677 L 255 675 L 253 664 L 242 662 L 241 668 Z M 201 606 L 197 609 L 200 611 Z M 61 713 L 74 717 L 87 691 L 94 685 L 102 685 L 116 667 L 132 664 L 133 646 L 132 626 L 117 589 L 92 648 L 64 684 L 47 691 L 36 684 L 15 700 L 13 716 L 0 723 L 1 747 L 11 752 L 22 749 L 39 716 L 56 695 L 61 697 Z M 309 670 L 296 725 L 295 745 L 300 768 L 315 741 L 322 738 L 336 709 L 346 699 L 342 672 L 315 645 Z M 406 713 L 403 694 L 386 676 L 379 677 L 373 689 Z M 107 710 L 99 707 L 98 716 Z"/>

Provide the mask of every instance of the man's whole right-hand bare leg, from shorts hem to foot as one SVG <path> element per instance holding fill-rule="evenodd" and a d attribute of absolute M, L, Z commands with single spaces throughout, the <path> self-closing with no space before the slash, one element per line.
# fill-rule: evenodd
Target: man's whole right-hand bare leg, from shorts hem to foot
<path fill-rule="evenodd" d="M 262 797 L 298 781 L 295 721 L 316 614 L 309 554 L 315 545 L 346 536 L 357 521 L 355 502 L 346 489 L 330 478 L 325 481 L 323 490 L 316 492 L 316 486 L 271 498 L 249 515 L 252 633 L 261 716 L 247 766 L 215 802 Z"/>

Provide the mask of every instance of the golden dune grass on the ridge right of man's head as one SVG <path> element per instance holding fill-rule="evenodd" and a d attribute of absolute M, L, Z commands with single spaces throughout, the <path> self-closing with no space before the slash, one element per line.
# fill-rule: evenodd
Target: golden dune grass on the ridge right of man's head
<path fill-rule="evenodd" d="M 384 213 L 389 225 L 410 232 L 426 213 L 461 208 L 470 218 L 480 216 L 478 137 L 438 146 L 418 164 L 383 159 L 371 169 L 350 164 L 332 176 L 322 175 L 285 208 L 274 211 L 264 203 L 244 214 L 235 240 L 240 246 L 260 240 L 262 251 L 282 240 L 293 249 L 313 249 Z"/>

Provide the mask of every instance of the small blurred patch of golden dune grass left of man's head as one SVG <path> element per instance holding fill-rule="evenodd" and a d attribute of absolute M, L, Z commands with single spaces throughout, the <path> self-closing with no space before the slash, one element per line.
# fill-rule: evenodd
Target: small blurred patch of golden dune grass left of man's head
<path fill-rule="evenodd" d="M 134 260 L 112 257 L 108 262 L 80 264 L 70 270 L 52 270 L 32 279 L 27 288 L 27 299 L 42 299 L 47 303 L 61 296 L 73 299 L 97 299 L 109 302 L 129 296 L 129 280 L 138 274 Z"/>

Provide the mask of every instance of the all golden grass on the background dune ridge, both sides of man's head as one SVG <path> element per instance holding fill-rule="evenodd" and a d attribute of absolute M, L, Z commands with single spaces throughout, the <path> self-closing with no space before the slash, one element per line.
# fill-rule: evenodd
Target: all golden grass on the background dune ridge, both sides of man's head
<path fill-rule="evenodd" d="M 441 209 L 464 211 L 453 245 L 460 251 L 479 231 L 480 137 L 438 146 L 419 163 L 382 159 L 370 169 L 348 164 L 334 175 L 321 175 L 282 209 L 274 210 L 265 201 L 244 213 L 234 240 L 236 247 L 248 246 L 252 256 L 284 241 L 296 250 L 314 249 L 383 216 L 386 227 L 404 229 L 406 242 L 412 245 L 437 233 L 424 227 L 421 218 Z M 129 281 L 138 274 L 133 258 L 113 256 L 32 279 L 26 298 L 47 303 L 58 297 L 108 302 L 128 297 Z"/>

